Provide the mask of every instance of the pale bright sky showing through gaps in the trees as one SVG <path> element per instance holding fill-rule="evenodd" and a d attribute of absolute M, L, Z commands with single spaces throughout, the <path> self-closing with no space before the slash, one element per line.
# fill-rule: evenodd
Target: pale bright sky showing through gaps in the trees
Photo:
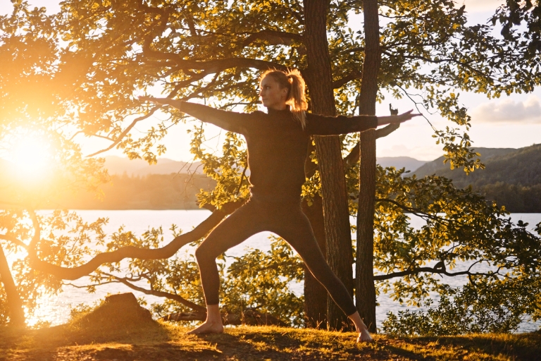
<path fill-rule="evenodd" d="M 59 10 L 58 0 L 28 0 L 32 6 L 45 6 L 48 13 L 55 13 Z M 485 23 L 495 8 L 502 4 L 503 0 L 466 0 L 457 1 L 459 5 L 466 4 L 468 19 L 471 23 Z M 0 14 L 9 13 L 13 6 L 9 0 L 0 0 Z M 350 20 L 355 30 L 362 26 L 361 17 L 352 17 Z M 541 143 L 541 89 L 530 94 L 511 94 L 502 96 L 499 99 L 487 99 L 483 94 L 461 93 L 459 100 L 468 108 L 472 117 L 471 129 L 468 134 L 473 140 L 473 147 L 494 147 L 494 148 L 519 148 L 528 147 Z M 413 104 L 407 99 L 391 99 L 385 97 L 382 104 L 376 106 L 376 115 L 389 115 L 389 103 L 394 108 L 403 111 L 413 109 Z M 435 128 L 443 129 L 451 126 L 452 123 L 445 121 L 439 116 L 425 114 Z M 135 132 L 143 132 L 152 125 L 156 118 L 149 118 L 146 123 L 138 124 Z M 189 122 L 187 126 L 177 126 L 170 130 L 166 137 L 168 152 L 163 157 L 175 160 L 190 161 L 189 135 L 186 130 L 192 128 L 196 123 Z M 218 135 L 220 130 L 209 126 L 208 137 Z M 402 124 L 399 130 L 387 137 L 380 138 L 377 143 L 378 157 L 413 157 L 423 161 L 430 161 L 440 157 L 441 145 L 436 145 L 432 137 L 433 130 L 428 122 L 421 117 Z M 83 150 L 91 153 L 108 143 L 100 140 L 89 141 L 81 139 Z M 218 138 L 208 142 L 209 148 L 216 148 L 219 145 Z M 120 151 L 113 149 L 101 154 L 122 155 Z"/>

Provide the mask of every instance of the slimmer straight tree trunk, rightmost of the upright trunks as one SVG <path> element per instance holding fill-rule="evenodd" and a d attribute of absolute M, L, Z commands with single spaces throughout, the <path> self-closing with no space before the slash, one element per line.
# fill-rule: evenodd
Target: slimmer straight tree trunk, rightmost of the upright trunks
<path fill-rule="evenodd" d="M 365 59 L 361 82 L 360 113 L 375 114 L 380 68 L 378 1 L 363 3 Z M 373 279 L 375 130 L 361 133 L 359 168 L 359 213 L 357 214 L 356 307 L 368 330 L 375 332 L 375 287 Z"/>

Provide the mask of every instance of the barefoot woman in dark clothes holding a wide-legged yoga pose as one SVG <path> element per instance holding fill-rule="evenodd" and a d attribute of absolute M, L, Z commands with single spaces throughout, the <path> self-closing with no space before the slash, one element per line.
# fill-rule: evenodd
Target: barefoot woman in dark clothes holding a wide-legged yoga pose
<path fill-rule="evenodd" d="M 206 301 L 206 321 L 191 334 L 223 332 L 218 307 L 220 280 L 216 257 L 251 235 L 270 231 L 287 240 L 332 300 L 354 322 L 357 342 L 372 338 L 344 284 L 332 272 L 301 211 L 304 160 L 311 135 L 338 135 L 402 123 L 417 116 L 319 116 L 306 112 L 304 80 L 299 71 L 266 71 L 259 96 L 267 113 L 235 113 L 174 99 L 140 97 L 180 111 L 230 132 L 244 135 L 248 147 L 250 200 L 228 216 L 195 251 Z"/>

